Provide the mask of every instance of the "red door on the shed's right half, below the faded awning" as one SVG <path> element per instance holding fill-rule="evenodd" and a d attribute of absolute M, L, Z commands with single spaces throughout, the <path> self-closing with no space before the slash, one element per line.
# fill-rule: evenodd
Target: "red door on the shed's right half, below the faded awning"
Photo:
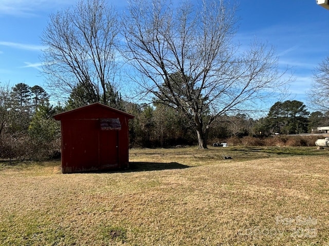
<path fill-rule="evenodd" d="M 119 167 L 118 131 L 100 131 L 100 168 Z"/>

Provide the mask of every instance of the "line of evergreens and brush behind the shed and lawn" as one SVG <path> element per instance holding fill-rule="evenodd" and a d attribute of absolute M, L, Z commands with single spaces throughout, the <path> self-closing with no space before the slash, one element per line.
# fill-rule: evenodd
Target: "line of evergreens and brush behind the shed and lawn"
<path fill-rule="evenodd" d="M 81 88 L 80 88 L 81 89 Z M 56 106 L 40 86 L 24 83 L 0 87 L 0 158 L 49 159 L 59 158 L 61 149 L 60 122 L 53 115 L 89 104 L 72 91 L 69 99 Z M 79 93 L 82 93 L 81 91 Z M 196 146 L 194 129 L 184 115 L 162 104 L 135 104 L 125 101 L 108 88 L 108 106 L 135 115 L 130 121 L 131 148 Z M 204 120 L 211 117 L 204 114 Z M 301 101 L 278 101 L 266 117 L 253 119 L 244 113 L 217 118 L 209 131 L 208 145 L 227 141 L 230 137 L 257 138 L 273 134 L 310 133 L 316 127 L 329 125 L 329 113 L 309 113 Z"/>

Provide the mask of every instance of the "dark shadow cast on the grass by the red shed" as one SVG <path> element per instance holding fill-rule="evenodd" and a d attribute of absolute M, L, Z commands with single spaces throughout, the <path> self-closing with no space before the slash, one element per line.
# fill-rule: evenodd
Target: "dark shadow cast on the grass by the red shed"
<path fill-rule="evenodd" d="M 157 171 L 157 170 L 168 170 L 168 169 L 184 169 L 189 166 L 182 165 L 177 162 L 129 162 L 129 169 L 124 170 L 125 172 L 141 172 L 141 171 Z"/>

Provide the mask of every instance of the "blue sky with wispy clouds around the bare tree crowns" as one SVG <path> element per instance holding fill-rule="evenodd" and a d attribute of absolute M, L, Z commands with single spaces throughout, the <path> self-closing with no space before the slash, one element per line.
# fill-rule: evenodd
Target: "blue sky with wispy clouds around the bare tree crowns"
<path fill-rule="evenodd" d="M 178 1 L 178 0 L 175 0 Z M 126 1 L 108 1 L 122 9 Z M 232 1 L 233 2 L 233 1 Z M 316 0 L 240 0 L 242 45 L 257 37 L 276 48 L 280 66 L 292 67 L 296 81 L 288 99 L 306 104 L 314 68 L 329 55 L 329 10 Z M 0 83 L 40 85 L 40 35 L 52 12 L 75 5 L 76 0 L 0 0 Z M 307 104 L 306 104 L 307 106 Z"/>

